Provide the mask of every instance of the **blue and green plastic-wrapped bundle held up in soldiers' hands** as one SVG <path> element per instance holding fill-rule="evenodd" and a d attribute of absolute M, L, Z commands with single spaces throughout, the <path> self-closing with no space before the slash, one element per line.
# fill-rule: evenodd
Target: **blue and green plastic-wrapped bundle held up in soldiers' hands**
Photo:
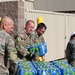
<path fill-rule="evenodd" d="M 36 44 L 30 46 L 28 50 L 30 53 L 34 53 L 38 56 L 43 56 L 47 52 L 47 45 L 45 42 L 36 43 Z"/>

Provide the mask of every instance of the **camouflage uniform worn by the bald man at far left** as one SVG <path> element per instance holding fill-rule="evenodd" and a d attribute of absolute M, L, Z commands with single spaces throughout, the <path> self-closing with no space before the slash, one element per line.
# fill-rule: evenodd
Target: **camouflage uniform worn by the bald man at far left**
<path fill-rule="evenodd" d="M 17 64 L 16 50 L 12 37 L 0 29 L 0 75 L 8 75 L 11 64 Z"/>

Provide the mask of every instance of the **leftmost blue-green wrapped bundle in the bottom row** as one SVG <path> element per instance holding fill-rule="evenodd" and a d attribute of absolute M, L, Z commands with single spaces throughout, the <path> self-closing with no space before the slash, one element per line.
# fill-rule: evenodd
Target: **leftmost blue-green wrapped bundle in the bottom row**
<path fill-rule="evenodd" d="M 17 75 L 36 75 L 37 71 L 30 61 L 19 61 Z"/>

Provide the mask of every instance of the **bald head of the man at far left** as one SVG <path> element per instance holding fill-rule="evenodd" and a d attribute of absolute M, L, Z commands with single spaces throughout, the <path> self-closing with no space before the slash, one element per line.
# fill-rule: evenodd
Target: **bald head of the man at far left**
<path fill-rule="evenodd" d="M 3 17 L 1 28 L 3 28 L 5 32 L 10 34 L 11 32 L 13 32 L 13 27 L 14 27 L 13 20 L 8 16 Z"/>

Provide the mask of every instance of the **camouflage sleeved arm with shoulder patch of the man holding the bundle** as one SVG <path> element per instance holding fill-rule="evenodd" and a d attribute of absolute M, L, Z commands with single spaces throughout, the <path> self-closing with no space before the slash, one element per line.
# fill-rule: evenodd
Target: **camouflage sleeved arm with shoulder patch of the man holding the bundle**
<path fill-rule="evenodd" d="M 24 44 L 25 40 L 23 39 L 23 36 L 18 35 L 16 38 L 16 49 L 22 56 L 26 56 L 27 54 L 29 54 L 29 51 L 27 50 L 26 47 L 24 47 L 25 46 Z"/>

